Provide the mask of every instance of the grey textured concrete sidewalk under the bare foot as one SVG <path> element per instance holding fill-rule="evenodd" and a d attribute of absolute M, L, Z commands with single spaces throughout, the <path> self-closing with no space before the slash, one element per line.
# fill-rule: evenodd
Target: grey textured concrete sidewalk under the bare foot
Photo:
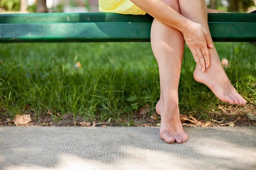
<path fill-rule="evenodd" d="M 255 170 L 256 127 L 0 127 L 1 170 Z"/>

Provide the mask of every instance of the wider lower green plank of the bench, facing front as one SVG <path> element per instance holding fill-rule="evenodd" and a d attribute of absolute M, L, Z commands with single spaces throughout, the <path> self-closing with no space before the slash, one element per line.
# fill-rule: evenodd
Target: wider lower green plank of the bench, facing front
<path fill-rule="evenodd" d="M 256 23 L 210 22 L 214 41 L 256 41 Z M 150 41 L 150 22 L 0 24 L 0 43 Z"/>

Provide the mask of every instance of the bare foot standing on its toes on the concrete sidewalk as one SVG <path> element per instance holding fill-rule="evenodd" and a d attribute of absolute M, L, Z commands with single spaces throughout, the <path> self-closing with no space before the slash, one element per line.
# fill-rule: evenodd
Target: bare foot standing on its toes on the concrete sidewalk
<path fill-rule="evenodd" d="M 186 142 L 188 135 L 180 122 L 178 102 L 169 102 L 163 107 L 162 99 L 156 104 L 156 112 L 161 115 L 160 138 L 166 143 Z"/>

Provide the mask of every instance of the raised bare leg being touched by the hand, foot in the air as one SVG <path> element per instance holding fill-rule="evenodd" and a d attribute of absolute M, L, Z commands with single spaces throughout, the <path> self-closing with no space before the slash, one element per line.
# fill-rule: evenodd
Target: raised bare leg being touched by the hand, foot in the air
<path fill-rule="evenodd" d="M 182 16 L 200 23 L 210 33 L 207 22 L 207 8 L 205 0 L 179 0 L 179 5 Z M 245 105 L 246 100 L 236 92 L 236 89 L 232 86 L 228 76 L 222 68 L 215 47 L 209 49 L 209 55 L 211 66 L 204 72 L 201 72 L 199 70 L 199 65 L 197 64 L 194 71 L 195 80 L 206 84 L 206 86 L 208 86 L 223 102 Z"/>

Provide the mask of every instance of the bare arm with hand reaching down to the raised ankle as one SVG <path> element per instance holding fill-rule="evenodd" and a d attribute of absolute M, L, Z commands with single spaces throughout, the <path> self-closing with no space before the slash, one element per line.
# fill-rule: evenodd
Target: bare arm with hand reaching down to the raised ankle
<path fill-rule="evenodd" d="M 131 0 L 131 2 L 162 23 L 181 31 L 194 60 L 200 63 L 202 68 L 210 66 L 207 46 L 213 47 L 212 39 L 201 24 L 185 18 L 162 0 Z M 199 56 L 203 56 L 204 60 Z"/>

